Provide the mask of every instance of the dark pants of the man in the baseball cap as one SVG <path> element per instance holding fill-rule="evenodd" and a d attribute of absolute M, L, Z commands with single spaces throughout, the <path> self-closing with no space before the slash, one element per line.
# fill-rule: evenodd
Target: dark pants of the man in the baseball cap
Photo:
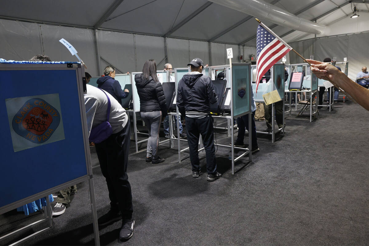
<path fill-rule="evenodd" d="M 214 148 L 214 128 L 213 119 L 207 116 L 202 119 L 194 119 L 186 116 L 187 141 L 190 150 L 190 160 L 192 171 L 198 171 L 200 167 L 199 160 L 199 137 L 203 138 L 203 144 L 206 152 L 206 170 L 208 174 L 217 173 L 217 163 L 215 162 Z"/>

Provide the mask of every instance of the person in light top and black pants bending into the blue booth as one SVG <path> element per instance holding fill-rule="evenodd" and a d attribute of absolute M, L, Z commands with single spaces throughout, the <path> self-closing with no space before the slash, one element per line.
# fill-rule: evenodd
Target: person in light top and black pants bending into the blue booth
<path fill-rule="evenodd" d="M 133 235 L 135 221 L 132 218 L 132 192 L 128 181 L 127 164 L 131 141 L 131 125 L 124 108 L 109 93 L 86 85 L 85 97 L 87 131 L 107 121 L 108 98 L 110 117 L 108 119 L 113 133 L 100 143 L 95 143 L 101 173 L 106 179 L 110 198 L 110 211 L 101 216 L 99 226 L 113 224 L 122 219 L 120 240 L 128 240 Z"/>

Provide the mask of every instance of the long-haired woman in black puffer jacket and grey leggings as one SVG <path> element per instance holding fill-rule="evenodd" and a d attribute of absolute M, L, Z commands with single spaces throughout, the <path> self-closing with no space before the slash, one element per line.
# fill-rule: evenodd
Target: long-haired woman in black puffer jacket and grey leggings
<path fill-rule="evenodd" d="M 160 122 L 168 114 L 163 87 L 156 77 L 155 60 L 146 60 L 142 74 L 135 75 L 141 118 L 149 129 L 146 162 L 163 162 L 158 156 Z"/>

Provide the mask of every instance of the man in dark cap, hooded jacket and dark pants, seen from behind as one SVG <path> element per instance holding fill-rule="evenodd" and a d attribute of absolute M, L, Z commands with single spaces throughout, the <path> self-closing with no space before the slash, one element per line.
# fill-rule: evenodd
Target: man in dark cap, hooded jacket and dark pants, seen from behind
<path fill-rule="evenodd" d="M 210 103 L 218 101 L 218 97 L 211 79 L 201 74 L 204 67 L 203 61 L 195 58 L 187 66 L 191 66 L 191 72 L 183 75 L 178 82 L 177 106 L 186 120 L 192 177 L 200 176 L 198 143 L 201 134 L 206 152 L 207 180 L 214 181 L 222 176 L 217 172 L 213 119 L 210 116 Z"/>

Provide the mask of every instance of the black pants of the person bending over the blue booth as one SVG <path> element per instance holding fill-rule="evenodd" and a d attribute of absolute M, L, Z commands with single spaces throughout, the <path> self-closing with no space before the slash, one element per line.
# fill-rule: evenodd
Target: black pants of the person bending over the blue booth
<path fill-rule="evenodd" d="M 108 186 L 111 209 L 121 211 L 123 220 L 132 219 L 132 193 L 128 182 L 127 164 L 131 141 L 130 122 L 122 131 L 96 143 L 101 172 Z"/>

